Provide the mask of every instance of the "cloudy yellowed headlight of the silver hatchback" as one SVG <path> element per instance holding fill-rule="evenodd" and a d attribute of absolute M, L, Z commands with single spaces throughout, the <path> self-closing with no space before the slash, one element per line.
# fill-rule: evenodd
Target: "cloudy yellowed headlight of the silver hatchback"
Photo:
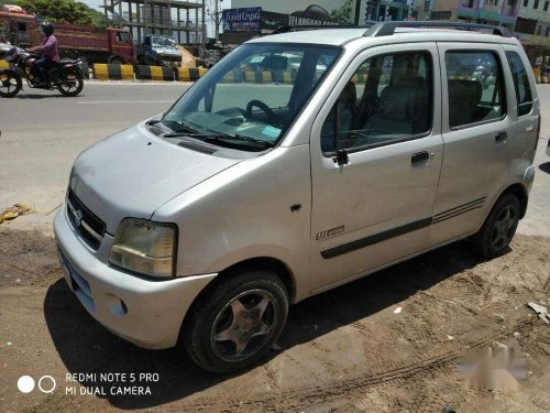
<path fill-rule="evenodd" d="M 124 218 L 109 253 L 109 262 L 144 275 L 176 275 L 177 227 L 174 224 Z"/>

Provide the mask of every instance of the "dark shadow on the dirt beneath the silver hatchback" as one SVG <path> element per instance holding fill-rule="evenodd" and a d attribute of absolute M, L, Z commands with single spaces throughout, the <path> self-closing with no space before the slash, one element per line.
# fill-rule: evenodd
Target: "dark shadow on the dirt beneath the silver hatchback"
<path fill-rule="evenodd" d="M 480 262 L 465 242 L 458 242 L 310 297 L 290 308 L 278 341 L 280 351 L 369 317 Z M 152 395 L 103 395 L 116 407 L 132 410 L 161 405 L 230 378 L 202 371 L 182 348 L 144 350 L 113 336 L 88 315 L 63 279 L 47 290 L 44 315 L 53 343 L 72 373 L 160 374 L 158 382 L 147 383 Z M 272 351 L 271 357 L 278 354 Z M 80 383 L 103 387 L 106 392 L 112 385 L 94 380 Z"/>

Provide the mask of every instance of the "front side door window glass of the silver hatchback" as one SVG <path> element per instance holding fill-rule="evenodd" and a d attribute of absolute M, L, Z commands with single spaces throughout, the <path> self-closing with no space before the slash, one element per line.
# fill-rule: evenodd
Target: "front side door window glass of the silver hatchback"
<path fill-rule="evenodd" d="M 432 85 L 427 52 L 369 58 L 345 84 L 322 126 L 322 152 L 369 149 L 428 133 Z"/>

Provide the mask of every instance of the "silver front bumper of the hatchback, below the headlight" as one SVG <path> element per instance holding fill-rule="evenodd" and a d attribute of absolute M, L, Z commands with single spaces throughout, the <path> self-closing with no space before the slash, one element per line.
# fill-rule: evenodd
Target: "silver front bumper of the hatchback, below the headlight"
<path fill-rule="evenodd" d="M 55 216 L 54 232 L 70 290 L 94 318 L 140 347 L 174 347 L 189 306 L 217 275 L 152 281 L 112 268 L 78 238 L 66 207 Z"/>

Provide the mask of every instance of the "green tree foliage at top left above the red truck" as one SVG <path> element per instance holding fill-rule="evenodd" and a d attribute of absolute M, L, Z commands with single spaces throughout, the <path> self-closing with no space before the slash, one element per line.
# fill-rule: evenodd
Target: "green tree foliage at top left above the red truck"
<path fill-rule="evenodd" d="M 16 4 L 52 22 L 79 25 L 94 23 L 90 8 L 75 0 L 18 0 Z"/>

